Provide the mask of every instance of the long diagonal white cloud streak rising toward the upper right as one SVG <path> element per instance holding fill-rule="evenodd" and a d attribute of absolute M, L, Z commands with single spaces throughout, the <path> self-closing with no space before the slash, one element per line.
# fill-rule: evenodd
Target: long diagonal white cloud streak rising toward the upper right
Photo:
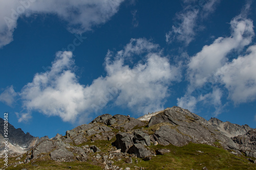
<path fill-rule="evenodd" d="M 230 37 L 217 38 L 190 59 L 187 65 L 187 77 L 190 83 L 188 93 L 207 82 L 217 69 L 227 62 L 228 53 L 233 50 L 241 51 L 251 42 L 254 36 L 252 20 L 237 16 L 231 20 L 230 25 L 232 30 Z"/>

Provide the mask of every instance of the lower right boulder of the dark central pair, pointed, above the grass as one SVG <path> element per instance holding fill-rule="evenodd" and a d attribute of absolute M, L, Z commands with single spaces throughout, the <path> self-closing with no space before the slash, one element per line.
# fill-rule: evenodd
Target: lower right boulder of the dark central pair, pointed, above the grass
<path fill-rule="evenodd" d="M 129 154 L 135 154 L 139 158 L 144 158 L 147 156 L 151 156 L 151 152 L 148 151 L 143 144 L 135 143 L 132 147 L 127 151 Z"/>

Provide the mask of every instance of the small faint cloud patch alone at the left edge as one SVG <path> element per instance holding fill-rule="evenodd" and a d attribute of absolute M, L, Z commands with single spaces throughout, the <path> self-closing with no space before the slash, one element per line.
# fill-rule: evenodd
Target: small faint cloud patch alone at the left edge
<path fill-rule="evenodd" d="M 17 93 L 14 91 L 13 86 L 7 87 L 0 94 L 0 102 L 4 102 L 7 105 L 11 106 L 15 102 L 15 97 Z"/>

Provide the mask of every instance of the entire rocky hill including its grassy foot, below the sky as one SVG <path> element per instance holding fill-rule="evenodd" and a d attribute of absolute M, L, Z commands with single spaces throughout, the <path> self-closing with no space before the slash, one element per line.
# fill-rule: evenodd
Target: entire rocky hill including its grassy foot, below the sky
<path fill-rule="evenodd" d="M 26 152 L 12 152 L 6 169 L 256 169 L 256 129 L 176 106 L 137 119 L 103 114 L 51 139 L 12 131 Z"/>

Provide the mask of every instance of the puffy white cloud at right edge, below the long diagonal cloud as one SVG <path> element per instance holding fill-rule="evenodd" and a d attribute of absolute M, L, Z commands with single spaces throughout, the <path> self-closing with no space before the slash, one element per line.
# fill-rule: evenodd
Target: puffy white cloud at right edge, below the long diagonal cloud
<path fill-rule="evenodd" d="M 216 76 L 228 89 L 228 98 L 234 103 L 256 99 L 256 45 L 247 49 L 247 54 L 233 59 L 219 68 Z"/>

